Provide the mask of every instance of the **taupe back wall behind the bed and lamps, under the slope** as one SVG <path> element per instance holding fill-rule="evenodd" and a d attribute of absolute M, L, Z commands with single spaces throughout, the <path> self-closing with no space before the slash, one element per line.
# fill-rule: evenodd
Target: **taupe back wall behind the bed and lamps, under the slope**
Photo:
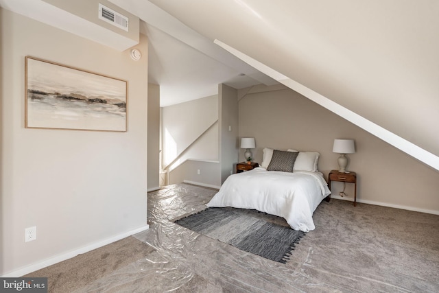
<path fill-rule="evenodd" d="M 439 213 L 439 172 L 289 89 L 244 95 L 239 100 L 239 136 L 255 137 L 255 161 L 263 148 L 320 152 L 326 178 L 337 169 L 333 139 L 355 139 L 348 169 L 357 172 L 357 200 Z M 239 152 L 240 161 L 244 155 Z M 333 194 L 342 183 L 333 184 Z M 353 186 L 346 185 L 352 199 Z M 361 208 L 361 205 L 359 206 Z"/>

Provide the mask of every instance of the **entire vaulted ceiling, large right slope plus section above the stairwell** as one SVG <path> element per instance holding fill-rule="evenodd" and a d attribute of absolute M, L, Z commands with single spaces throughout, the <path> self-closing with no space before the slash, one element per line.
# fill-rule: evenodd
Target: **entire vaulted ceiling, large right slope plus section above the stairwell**
<path fill-rule="evenodd" d="M 439 169 L 439 1 L 110 2 L 141 19 L 162 106 L 283 83 Z"/>

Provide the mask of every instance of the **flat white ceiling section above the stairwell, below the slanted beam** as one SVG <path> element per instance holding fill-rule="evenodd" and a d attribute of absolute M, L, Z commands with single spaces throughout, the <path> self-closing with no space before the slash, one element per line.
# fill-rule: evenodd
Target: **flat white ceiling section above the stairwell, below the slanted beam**
<path fill-rule="evenodd" d="M 149 41 L 148 82 L 160 84 L 162 107 L 216 95 L 220 83 L 236 89 L 261 83 L 244 73 L 251 74 L 254 69 L 250 67 L 239 71 L 152 25 L 145 26 Z M 265 84 L 275 83 L 265 79 Z"/>

